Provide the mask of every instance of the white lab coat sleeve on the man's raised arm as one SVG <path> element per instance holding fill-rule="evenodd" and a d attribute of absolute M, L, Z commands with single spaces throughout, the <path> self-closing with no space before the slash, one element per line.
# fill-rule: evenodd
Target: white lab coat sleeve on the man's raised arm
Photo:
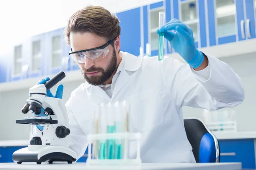
<path fill-rule="evenodd" d="M 209 54 L 206 56 L 209 65 L 199 72 L 188 64 L 172 60 L 170 66 L 175 76 L 171 78 L 170 88 L 177 107 L 217 110 L 239 105 L 244 100 L 239 76 L 226 63 Z"/>

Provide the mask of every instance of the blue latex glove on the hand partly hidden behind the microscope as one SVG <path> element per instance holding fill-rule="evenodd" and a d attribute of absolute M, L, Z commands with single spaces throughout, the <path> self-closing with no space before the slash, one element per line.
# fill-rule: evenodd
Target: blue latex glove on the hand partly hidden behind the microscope
<path fill-rule="evenodd" d="M 45 79 L 40 79 L 37 82 L 37 85 L 44 84 L 45 82 L 49 81 L 49 79 L 50 79 L 49 77 L 46 77 Z M 48 90 L 46 96 L 62 99 L 62 95 L 63 95 L 63 85 L 58 85 L 55 95 L 52 95 L 52 92 L 50 90 Z M 41 113 L 36 116 L 47 116 L 46 114 L 44 114 L 44 108 L 41 108 Z M 44 127 L 41 125 L 36 125 L 36 127 L 41 131 L 44 130 Z"/>

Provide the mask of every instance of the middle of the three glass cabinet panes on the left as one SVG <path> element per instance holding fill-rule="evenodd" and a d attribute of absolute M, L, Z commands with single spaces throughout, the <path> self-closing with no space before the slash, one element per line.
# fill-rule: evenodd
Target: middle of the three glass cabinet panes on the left
<path fill-rule="evenodd" d="M 32 65 L 31 71 L 38 71 L 41 69 L 41 46 L 40 41 L 32 42 Z"/>

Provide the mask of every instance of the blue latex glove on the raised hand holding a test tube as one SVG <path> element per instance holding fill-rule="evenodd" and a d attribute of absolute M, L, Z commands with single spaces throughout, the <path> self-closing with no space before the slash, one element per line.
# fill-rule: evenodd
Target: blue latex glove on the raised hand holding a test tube
<path fill-rule="evenodd" d="M 173 30 L 175 30 L 173 32 Z M 172 31 L 172 32 L 171 32 Z M 180 20 L 172 19 L 160 29 L 157 34 L 164 32 L 164 37 L 171 43 L 172 48 L 192 67 L 198 68 L 204 61 L 204 55 L 195 48 L 193 31 Z"/>

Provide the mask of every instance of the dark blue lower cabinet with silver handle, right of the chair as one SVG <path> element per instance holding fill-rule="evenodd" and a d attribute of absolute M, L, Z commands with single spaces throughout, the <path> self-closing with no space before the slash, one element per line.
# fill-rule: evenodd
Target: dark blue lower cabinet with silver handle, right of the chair
<path fill-rule="evenodd" d="M 219 144 L 221 162 L 241 162 L 242 168 L 256 168 L 253 139 L 220 140 Z"/>

